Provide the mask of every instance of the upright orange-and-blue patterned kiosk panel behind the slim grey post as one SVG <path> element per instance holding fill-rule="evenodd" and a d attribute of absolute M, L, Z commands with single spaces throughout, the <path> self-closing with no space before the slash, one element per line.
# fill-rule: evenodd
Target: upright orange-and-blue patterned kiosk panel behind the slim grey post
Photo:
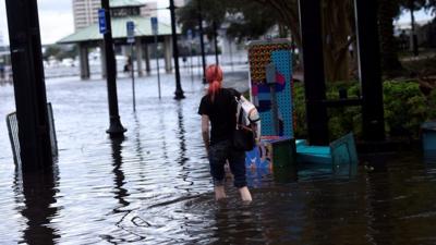
<path fill-rule="evenodd" d="M 253 41 L 249 45 L 251 96 L 261 114 L 262 135 L 274 135 L 271 93 L 266 83 L 266 65 L 276 68 L 276 97 L 279 135 L 293 137 L 292 54 L 288 40 Z"/>

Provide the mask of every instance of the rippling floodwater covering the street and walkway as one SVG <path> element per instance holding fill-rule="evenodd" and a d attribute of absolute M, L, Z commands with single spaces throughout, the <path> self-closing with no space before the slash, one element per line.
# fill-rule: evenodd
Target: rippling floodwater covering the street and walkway
<path fill-rule="evenodd" d="M 118 81 L 124 140 L 111 140 L 106 82 L 47 81 L 59 159 L 50 174 L 15 172 L 0 124 L 0 244 L 436 244 L 436 163 L 402 152 L 353 175 L 319 167 L 250 173 L 252 204 L 216 203 L 201 139 L 203 85 L 182 74 Z M 0 87 L 0 117 L 14 110 Z M 3 121 L 4 122 L 4 121 Z M 284 176 L 283 176 L 284 175 Z M 288 176 L 287 176 L 288 175 Z"/>

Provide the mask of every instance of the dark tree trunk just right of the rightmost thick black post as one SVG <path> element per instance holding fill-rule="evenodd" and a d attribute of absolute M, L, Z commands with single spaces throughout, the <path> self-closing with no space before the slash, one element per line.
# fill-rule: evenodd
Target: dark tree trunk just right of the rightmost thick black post
<path fill-rule="evenodd" d="M 378 32 L 380 35 L 382 71 L 386 76 L 395 76 L 402 70 L 398 59 L 397 42 L 393 37 L 393 17 L 398 13 L 396 0 L 378 1 Z"/>

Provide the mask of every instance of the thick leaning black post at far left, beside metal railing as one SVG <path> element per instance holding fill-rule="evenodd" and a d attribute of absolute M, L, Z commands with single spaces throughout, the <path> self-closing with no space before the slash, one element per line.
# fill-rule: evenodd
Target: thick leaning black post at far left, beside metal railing
<path fill-rule="evenodd" d="M 36 0 L 7 0 L 23 172 L 52 167 Z"/>

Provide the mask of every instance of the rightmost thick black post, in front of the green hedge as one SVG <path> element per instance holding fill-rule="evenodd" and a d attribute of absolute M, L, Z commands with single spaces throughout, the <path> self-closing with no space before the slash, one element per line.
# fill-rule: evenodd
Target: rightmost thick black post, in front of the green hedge
<path fill-rule="evenodd" d="M 385 139 L 377 0 L 354 0 L 365 140 Z"/>

